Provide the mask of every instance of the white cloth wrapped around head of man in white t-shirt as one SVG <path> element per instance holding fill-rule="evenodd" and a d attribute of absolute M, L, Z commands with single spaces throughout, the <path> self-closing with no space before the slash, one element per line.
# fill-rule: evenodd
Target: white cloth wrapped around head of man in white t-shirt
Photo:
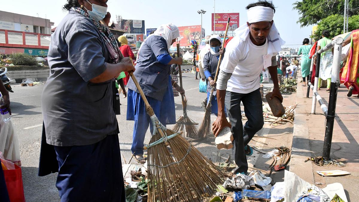
<path fill-rule="evenodd" d="M 264 6 L 255 6 L 247 11 L 248 23 L 256 23 L 267 21 L 271 22 L 274 17 L 273 9 Z M 236 29 L 236 36 L 240 37 L 242 40 L 246 40 L 248 35 L 250 34 L 250 30 L 247 26 L 247 23 Z M 285 41 L 280 38 L 279 32 L 275 27 L 273 22 L 272 27 L 270 29 L 269 35 L 267 37 L 268 43 L 268 54 L 272 56 L 276 56 L 278 52 L 281 50 L 281 46 L 284 45 Z"/>

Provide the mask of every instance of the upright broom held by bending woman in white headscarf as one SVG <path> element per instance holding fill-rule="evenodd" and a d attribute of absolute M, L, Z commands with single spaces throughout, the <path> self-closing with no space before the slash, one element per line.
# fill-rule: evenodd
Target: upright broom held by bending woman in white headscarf
<path fill-rule="evenodd" d="M 180 56 L 180 44 L 177 43 L 177 57 Z M 182 84 L 182 69 L 181 69 L 181 65 L 178 65 L 178 69 L 180 69 L 180 86 L 181 88 L 183 87 Z M 182 96 L 182 109 L 183 109 L 183 114 L 182 116 L 180 116 L 180 118 L 178 118 L 176 120 L 176 124 L 174 124 L 172 130 L 179 132 L 179 131 L 183 131 L 184 129 L 186 129 L 186 136 L 189 138 L 195 138 L 197 137 L 198 134 L 198 123 L 195 123 L 195 121 L 193 121 L 191 118 L 188 117 L 187 115 L 187 98 L 184 95 Z"/>

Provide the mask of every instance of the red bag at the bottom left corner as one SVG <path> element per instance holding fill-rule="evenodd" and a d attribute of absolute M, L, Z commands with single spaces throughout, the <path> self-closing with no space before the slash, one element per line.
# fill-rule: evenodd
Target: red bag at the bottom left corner
<path fill-rule="evenodd" d="M 5 166 L 7 163 L 11 163 L 4 159 L 1 159 L 1 162 L 3 162 Z M 21 168 L 16 164 L 13 164 L 13 166 L 14 169 L 8 167 L 8 170 L 3 170 L 10 202 L 25 202 Z"/>

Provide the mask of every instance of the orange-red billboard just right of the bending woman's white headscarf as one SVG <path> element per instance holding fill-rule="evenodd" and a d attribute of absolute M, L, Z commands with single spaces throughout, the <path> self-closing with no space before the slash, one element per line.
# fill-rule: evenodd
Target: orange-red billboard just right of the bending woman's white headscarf
<path fill-rule="evenodd" d="M 180 46 L 191 46 L 191 40 L 195 39 L 200 41 L 201 36 L 201 26 L 185 26 L 185 27 L 178 27 L 180 30 L 180 37 L 178 38 Z M 205 34 L 205 29 L 202 29 L 202 36 Z M 173 47 L 176 47 L 176 42 L 173 43 Z"/>

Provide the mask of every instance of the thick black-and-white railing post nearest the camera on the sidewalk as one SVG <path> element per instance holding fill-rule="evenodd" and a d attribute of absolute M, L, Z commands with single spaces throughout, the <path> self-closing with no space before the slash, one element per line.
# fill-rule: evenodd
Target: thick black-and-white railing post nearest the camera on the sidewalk
<path fill-rule="evenodd" d="M 332 146 L 332 137 L 333 137 L 333 127 L 335 120 L 335 107 L 338 93 L 338 83 L 339 83 L 339 71 L 340 71 L 340 62 L 341 62 L 341 50 L 343 39 L 341 37 L 336 38 L 334 45 L 334 54 L 333 54 L 333 65 L 332 65 L 332 81 L 330 83 L 330 94 L 329 94 L 329 104 L 328 104 L 328 115 L 327 123 L 325 129 L 324 137 L 324 146 L 323 146 L 323 158 L 330 159 L 330 149 Z M 320 55 L 318 55 L 320 57 Z"/>

